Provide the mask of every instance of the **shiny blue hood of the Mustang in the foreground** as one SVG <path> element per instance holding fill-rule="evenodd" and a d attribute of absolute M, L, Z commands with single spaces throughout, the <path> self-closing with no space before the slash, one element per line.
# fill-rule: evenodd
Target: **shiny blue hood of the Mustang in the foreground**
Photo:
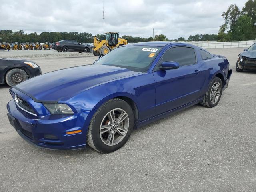
<path fill-rule="evenodd" d="M 93 64 L 42 74 L 13 88 L 36 102 L 66 101 L 98 84 L 138 73 L 125 68 Z"/>

